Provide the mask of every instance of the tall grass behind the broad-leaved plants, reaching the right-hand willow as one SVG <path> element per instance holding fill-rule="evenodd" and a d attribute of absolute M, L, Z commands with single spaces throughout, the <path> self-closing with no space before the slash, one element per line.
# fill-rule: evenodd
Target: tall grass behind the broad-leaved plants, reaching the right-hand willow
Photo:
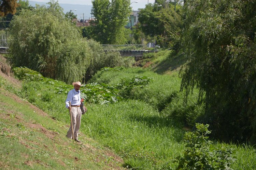
<path fill-rule="evenodd" d="M 159 75 L 149 69 L 128 68 L 120 71 L 99 71 L 90 81 L 116 86 L 121 79 L 131 79 L 134 75 L 147 76 L 153 80 L 142 88 L 134 87 L 129 91 L 128 98 L 144 101 L 160 112 L 164 110 L 163 114 L 170 115 L 172 119 L 177 118 L 189 125 L 194 125 L 196 118 L 203 113 L 203 104 L 197 101 L 197 90 L 188 97 L 188 103 L 184 103 L 185 94 L 180 92 L 181 79 L 177 74 Z"/>

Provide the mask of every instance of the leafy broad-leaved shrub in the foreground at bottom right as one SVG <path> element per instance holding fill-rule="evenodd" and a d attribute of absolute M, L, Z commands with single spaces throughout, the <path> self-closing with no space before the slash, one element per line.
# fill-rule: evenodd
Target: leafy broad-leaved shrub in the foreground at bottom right
<path fill-rule="evenodd" d="M 177 169 L 231 169 L 230 165 L 236 160 L 232 157 L 232 148 L 213 145 L 208 140 L 209 124 L 196 123 L 195 132 L 186 132 L 184 157 L 177 157 Z"/>

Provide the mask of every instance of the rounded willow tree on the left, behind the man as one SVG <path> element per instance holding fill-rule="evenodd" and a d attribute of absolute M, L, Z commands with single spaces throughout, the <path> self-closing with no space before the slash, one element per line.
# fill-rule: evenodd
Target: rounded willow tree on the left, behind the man
<path fill-rule="evenodd" d="M 88 45 L 58 3 L 23 10 L 11 21 L 9 47 L 14 66 L 26 66 L 67 83 L 82 81 Z"/>

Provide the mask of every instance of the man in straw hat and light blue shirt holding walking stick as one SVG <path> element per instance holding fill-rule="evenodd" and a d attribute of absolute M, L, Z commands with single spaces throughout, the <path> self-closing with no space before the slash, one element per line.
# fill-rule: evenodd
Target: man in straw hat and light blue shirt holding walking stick
<path fill-rule="evenodd" d="M 73 130 L 74 130 L 74 139 L 76 142 L 81 142 L 78 140 L 78 132 L 80 129 L 81 124 L 81 116 L 82 111 L 80 108 L 81 104 L 81 98 L 80 98 L 80 82 L 73 82 L 72 85 L 74 88 L 68 92 L 68 97 L 66 100 L 66 108 L 71 110 L 71 117 L 72 117 L 72 124 L 73 124 Z M 69 107 L 69 101 L 71 101 L 71 107 Z M 72 139 L 72 128 L 70 124 L 70 128 L 68 130 L 68 133 L 66 135 L 68 138 Z"/>

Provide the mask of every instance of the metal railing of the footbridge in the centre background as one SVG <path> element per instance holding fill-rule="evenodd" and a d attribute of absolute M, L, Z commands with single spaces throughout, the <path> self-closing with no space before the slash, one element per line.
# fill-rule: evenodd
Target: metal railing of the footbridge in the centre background
<path fill-rule="evenodd" d="M 143 44 L 129 44 L 129 45 L 101 45 L 104 51 L 139 51 L 145 50 L 146 45 Z"/>

